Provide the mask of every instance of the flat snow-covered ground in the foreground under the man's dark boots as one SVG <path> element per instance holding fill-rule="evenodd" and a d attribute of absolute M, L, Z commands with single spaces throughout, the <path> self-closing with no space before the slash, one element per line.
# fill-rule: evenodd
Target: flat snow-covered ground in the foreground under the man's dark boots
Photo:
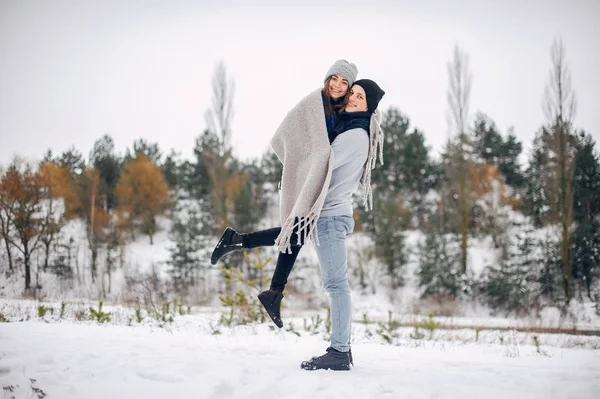
<path fill-rule="evenodd" d="M 533 344 L 485 339 L 400 338 L 392 346 L 355 332 L 350 372 L 308 372 L 300 362 L 324 352 L 321 334 L 258 324 L 219 327 L 214 335 L 215 317 L 178 316 L 164 328 L 56 315 L 0 323 L 4 398 L 38 398 L 35 389 L 61 399 L 548 399 L 600 392 L 600 350 L 543 345 L 539 353 Z M 600 338 L 586 339 L 597 345 Z"/>

